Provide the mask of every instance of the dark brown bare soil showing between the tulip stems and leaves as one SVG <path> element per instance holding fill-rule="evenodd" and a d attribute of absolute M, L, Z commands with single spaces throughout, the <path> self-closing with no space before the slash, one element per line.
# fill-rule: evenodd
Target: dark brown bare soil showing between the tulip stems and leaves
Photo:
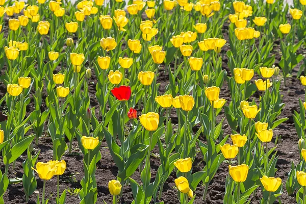
<path fill-rule="evenodd" d="M 276 45 L 277 48 L 277 45 Z M 222 54 L 224 55 L 222 67 L 223 69 L 227 69 L 227 58 L 225 55 L 226 49 L 228 49 L 228 46 L 225 46 L 225 49 L 222 51 Z M 276 57 L 276 66 L 277 62 L 280 60 L 280 56 L 277 52 L 275 52 Z M 284 83 L 282 82 L 282 90 L 281 93 L 283 95 L 283 103 L 286 104 L 285 108 L 282 111 L 281 116 L 279 118 L 288 117 L 289 119 L 282 123 L 281 125 L 277 126 L 274 130 L 274 138 L 275 136 L 282 136 L 280 140 L 278 140 L 277 143 L 277 164 L 276 164 L 276 175 L 277 177 L 281 177 L 283 180 L 283 188 L 284 193 L 280 196 L 282 203 L 295 203 L 295 193 L 293 195 L 288 195 L 285 183 L 287 180 L 287 174 L 290 170 L 290 165 L 292 162 L 294 164 L 297 164 L 300 160 L 299 158 L 299 151 L 298 151 L 298 136 L 295 131 L 292 114 L 294 110 L 298 111 L 298 98 L 304 97 L 304 87 L 300 84 L 299 80 L 296 79 L 296 72 L 298 70 L 297 66 L 294 69 L 292 78 L 289 78 L 287 80 L 287 86 L 284 86 Z M 228 69 L 227 69 L 228 71 Z M 4 70 L 2 70 L 4 72 Z M 230 73 L 228 73 L 230 74 Z M 257 76 L 258 77 L 258 76 Z M 98 108 L 98 103 L 95 99 L 95 76 L 93 74 L 91 80 L 94 82 L 92 83 L 92 86 L 90 87 L 90 96 L 91 96 L 91 107 Z M 283 80 L 281 76 L 278 77 L 278 80 Z M 165 89 L 165 86 L 169 82 L 168 76 L 164 74 L 163 71 L 160 71 L 160 75 L 158 77 L 158 83 L 161 83 L 160 93 L 163 94 L 163 91 Z M 0 95 L 3 97 L 6 93 L 6 87 L 3 83 L 0 84 Z M 255 97 L 259 97 L 259 93 L 254 94 Z M 226 81 L 224 81 L 224 84 L 222 86 L 222 90 L 220 91 L 220 97 L 227 99 L 230 101 L 230 91 L 228 90 L 228 85 Z M 28 112 L 31 112 L 33 110 L 33 99 L 31 100 L 31 104 L 28 106 Z M 5 110 L 6 107 L 4 104 L 2 105 L 1 110 Z M 43 105 L 45 108 L 45 105 Z M 177 117 L 175 115 L 175 111 L 172 110 L 171 113 L 171 120 L 175 123 L 177 122 Z M 222 111 L 218 117 L 217 120 L 219 121 L 221 118 L 225 117 L 224 112 Z M 224 136 L 227 134 L 231 134 L 230 126 L 228 125 L 226 119 L 223 123 L 223 129 L 224 129 Z M 199 139 L 201 141 L 205 142 L 205 138 L 203 136 L 200 136 Z M 274 141 L 273 141 L 274 142 Z M 271 147 L 274 145 L 274 143 L 271 142 Z M 39 139 L 39 145 L 34 145 L 33 154 L 36 154 L 41 150 L 40 155 L 38 157 L 38 161 L 47 162 L 48 160 L 52 159 L 53 157 L 53 150 L 52 150 L 52 140 L 48 136 L 47 133 L 44 134 L 43 137 Z M 118 168 L 116 167 L 115 163 L 113 162 L 113 159 L 110 155 L 110 152 L 108 150 L 108 146 L 106 141 L 104 140 L 101 144 L 101 160 L 97 163 L 97 170 L 96 170 L 96 181 L 97 181 L 97 188 L 98 188 L 98 198 L 97 203 L 112 203 L 112 195 L 109 193 L 108 190 L 108 182 L 110 180 L 116 179 L 116 175 L 118 172 Z M 158 147 L 153 150 L 154 154 L 158 154 Z M 22 165 L 21 163 L 25 160 L 26 154 L 23 154 L 20 158 L 18 158 L 16 162 L 16 168 L 15 171 L 12 171 L 12 169 L 9 170 L 11 172 L 9 174 L 9 177 L 22 177 Z M 2 159 L 2 156 L 0 156 L 0 159 Z M 83 155 L 81 150 L 78 148 L 78 142 L 75 140 L 73 141 L 73 151 L 71 155 L 68 155 L 68 152 L 63 156 L 63 158 L 67 163 L 67 169 L 65 173 L 61 176 L 60 179 L 60 192 L 62 192 L 64 189 L 69 189 L 71 193 L 67 192 L 67 198 L 66 203 L 78 203 L 80 202 L 80 199 L 78 197 L 78 194 L 73 194 L 73 191 L 75 189 L 81 189 L 80 181 L 82 180 L 84 176 L 84 169 L 83 169 Z M 203 156 L 200 152 L 197 153 L 196 159 L 193 163 L 193 171 L 199 171 L 202 170 L 204 165 L 202 162 Z M 150 164 L 151 164 L 151 173 L 152 177 L 154 178 L 156 175 L 156 171 L 160 165 L 160 161 L 156 157 L 150 158 Z M 5 166 L 3 162 L 0 163 L 0 168 L 4 172 Z M 204 192 L 204 187 L 200 183 L 194 192 L 196 194 L 196 198 L 194 203 L 223 203 L 223 196 L 225 191 L 225 177 L 228 173 L 228 167 L 227 163 L 222 163 L 216 173 L 216 176 L 212 180 L 212 182 L 209 185 L 208 189 L 208 195 L 207 199 L 205 201 L 202 201 L 202 195 Z M 141 183 L 140 181 L 140 173 L 137 171 L 132 176 L 133 179 L 135 179 L 138 183 Z M 174 179 L 176 178 L 175 173 L 171 173 L 167 182 L 164 186 L 164 191 L 162 194 L 162 199 L 167 204 L 177 204 L 179 203 L 179 200 L 177 199 L 177 190 L 173 187 Z M 56 197 L 56 177 L 54 177 L 52 180 L 47 181 L 46 184 L 46 195 L 49 197 L 49 203 L 55 203 L 55 197 Z M 28 203 L 36 203 L 37 196 L 41 196 L 42 194 L 42 186 L 43 182 L 37 177 L 37 191 L 30 197 L 30 201 Z M 262 198 L 262 192 L 260 189 L 258 189 L 256 196 L 252 197 L 251 203 L 259 203 L 260 199 Z M 7 192 L 4 195 L 5 203 L 7 204 L 13 204 L 13 203 L 26 203 L 25 202 L 25 195 L 22 187 L 22 183 L 18 184 L 10 184 L 8 187 Z M 130 186 L 124 186 L 123 188 L 123 197 L 121 199 L 120 203 L 131 203 L 133 201 L 133 195 L 132 195 L 132 189 Z"/>

